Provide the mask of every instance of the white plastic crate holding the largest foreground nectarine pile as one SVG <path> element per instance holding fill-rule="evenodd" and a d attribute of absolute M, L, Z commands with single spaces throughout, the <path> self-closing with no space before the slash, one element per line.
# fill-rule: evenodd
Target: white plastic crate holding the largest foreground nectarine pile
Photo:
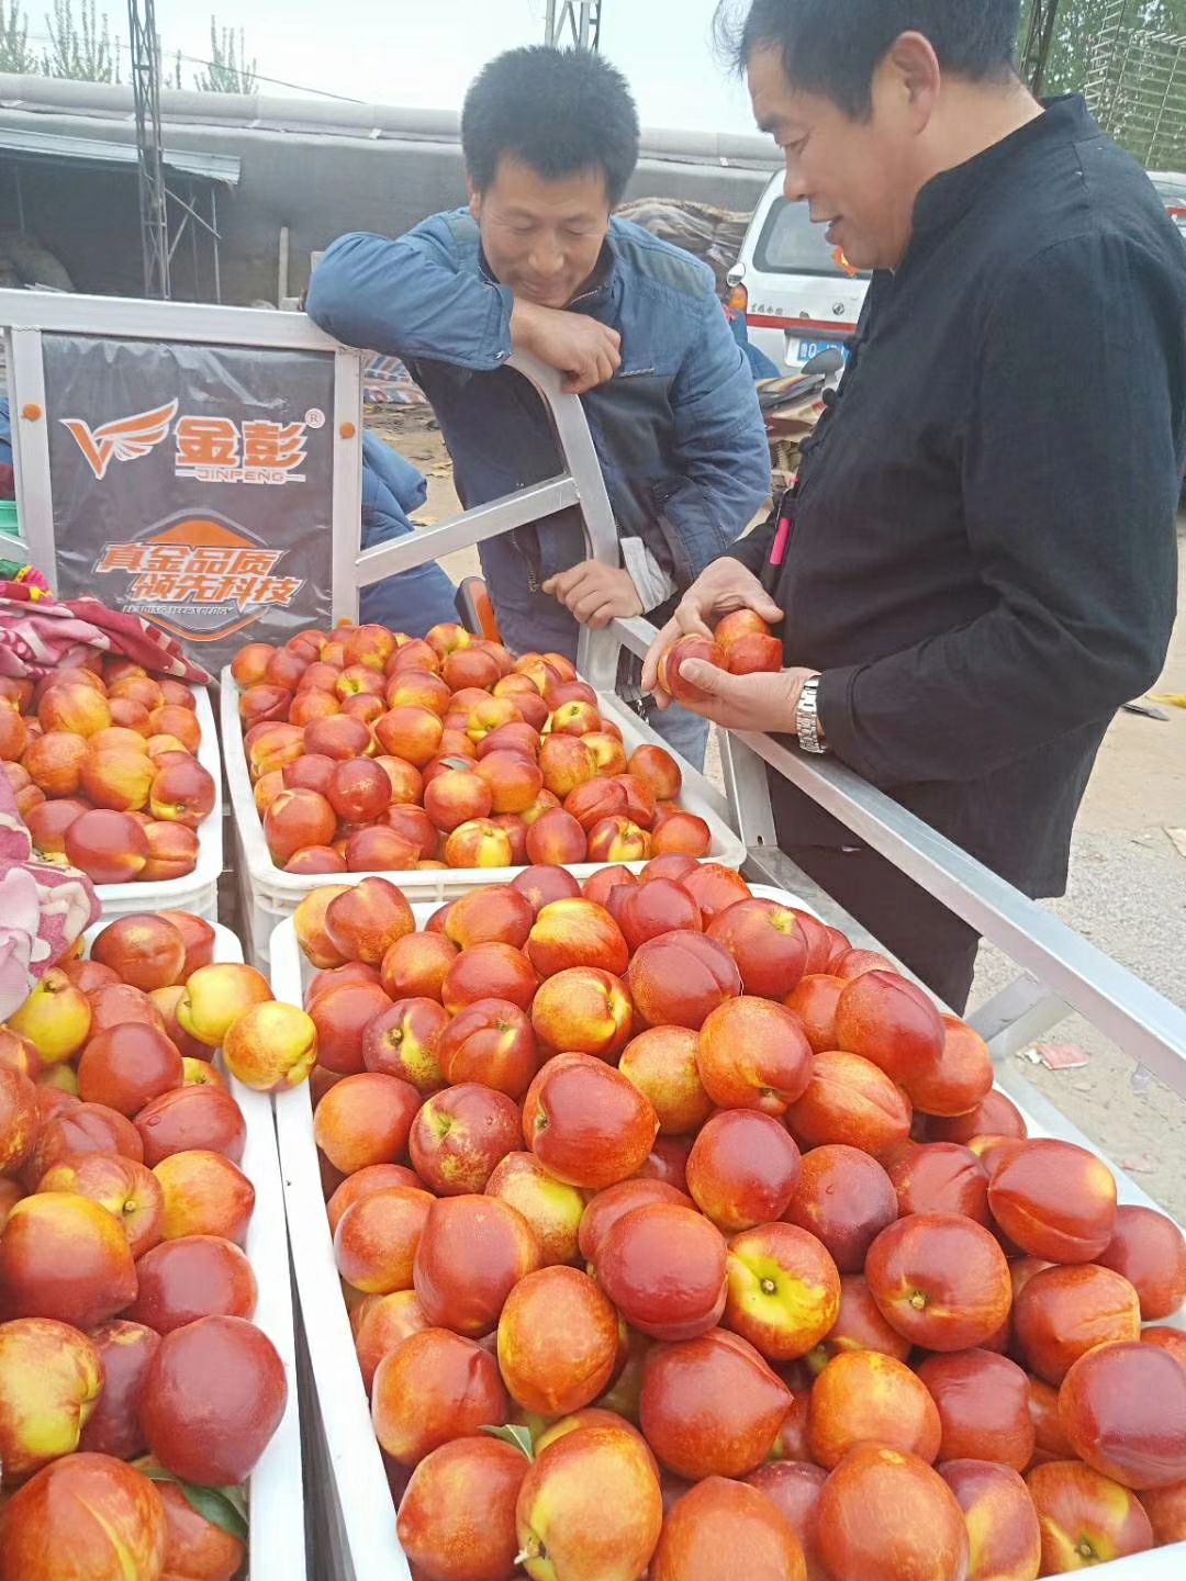
<path fill-rule="evenodd" d="M 810 911 L 803 901 L 781 890 L 764 885 L 753 889 L 767 900 L 781 900 Z M 417 926 L 422 926 L 432 907 L 413 909 Z M 310 977 L 312 968 L 300 955 L 293 923 L 285 922 L 272 938 L 272 990 L 277 999 L 302 1004 L 304 985 Z M 293 1266 L 312 1361 L 307 1383 L 316 1391 L 321 1428 L 318 1453 L 332 1472 L 327 1486 L 310 1488 L 308 1494 L 324 1505 L 324 1527 L 340 1534 L 334 1553 L 315 1556 L 316 1576 L 318 1581 L 408 1581 L 408 1562 L 395 1537 L 395 1505 L 372 1428 L 370 1404 L 334 1262 L 308 1085 L 278 1096 L 275 1113 Z M 1029 1135 L 1052 1135 L 1031 1115 L 1025 1115 L 1025 1119 Z M 1121 1202 L 1156 1206 L 1120 1172 L 1116 1183 Z M 1183 1314 L 1172 1322 L 1186 1328 Z M 1101 1581 L 1183 1581 L 1186 1543 L 1099 1565 L 1093 1575 Z"/>

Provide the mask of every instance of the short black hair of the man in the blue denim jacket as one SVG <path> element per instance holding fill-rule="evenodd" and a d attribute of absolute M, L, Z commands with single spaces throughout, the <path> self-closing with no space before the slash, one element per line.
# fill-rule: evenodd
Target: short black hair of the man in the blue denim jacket
<path fill-rule="evenodd" d="M 614 207 L 639 163 L 639 112 L 626 79 L 601 55 L 547 44 L 511 49 L 465 95 L 462 152 L 478 191 L 508 155 L 546 180 L 602 171 Z"/>

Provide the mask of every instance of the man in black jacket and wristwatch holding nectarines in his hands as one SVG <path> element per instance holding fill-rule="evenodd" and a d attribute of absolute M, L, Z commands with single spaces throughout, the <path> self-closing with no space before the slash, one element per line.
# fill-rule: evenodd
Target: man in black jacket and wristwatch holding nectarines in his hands
<path fill-rule="evenodd" d="M 835 753 L 1042 896 L 1173 626 L 1186 250 L 1083 103 L 1020 84 L 1017 22 L 1018 0 L 750 5 L 737 62 L 788 198 L 876 274 L 797 490 L 693 585 L 644 685 L 680 629 L 783 620 L 778 675 L 683 667 L 701 711 Z M 976 933 L 772 789 L 781 846 L 961 1009 Z"/>

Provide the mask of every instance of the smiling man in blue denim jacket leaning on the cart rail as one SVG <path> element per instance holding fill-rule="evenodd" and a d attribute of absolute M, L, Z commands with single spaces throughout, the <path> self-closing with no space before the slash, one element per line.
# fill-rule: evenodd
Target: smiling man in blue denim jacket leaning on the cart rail
<path fill-rule="evenodd" d="M 612 66 L 547 47 L 500 55 L 466 95 L 462 147 L 470 207 L 395 242 L 342 237 L 318 266 L 308 311 L 348 345 L 405 359 L 466 508 L 560 470 L 511 353 L 565 373 L 601 458 L 623 568 L 587 560 L 576 509 L 492 539 L 481 557 L 508 647 L 576 656 L 577 623 L 663 623 L 745 530 L 770 487 L 762 417 L 712 272 L 610 218 L 639 150 Z M 672 708 L 655 723 L 702 762 L 704 721 Z"/>

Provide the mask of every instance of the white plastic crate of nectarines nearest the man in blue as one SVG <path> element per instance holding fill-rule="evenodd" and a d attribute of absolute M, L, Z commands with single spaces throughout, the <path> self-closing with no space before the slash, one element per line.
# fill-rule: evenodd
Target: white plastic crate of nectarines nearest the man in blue
<path fill-rule="evenodd" d="M 606 718 L 621 727 L 626 753 L 644 743 L 666 746 L 637 715 L 631 713 L 617 699 L 606 699 L 602 696 L 599 707 Z M 247 945 L 251 958 L 266 964 L 272 930 L 285 917 L 293 915 L 310 890 L 324 889 L 327 884 L 357 881 L 368 874 L 326 873 L 304 876 L 285 873 L 272 862 L 267 843 L 264 841 L 264 828 L 256 811 L 251 776 L 244 754 L 244 732 L 239 721 L 239 686 L 229 669 L 225 669 L 221 675 L 220 718 L 223 727 L 223 754 L 226 757 L 226 783 L 231 789 L 231 808 L 234 811 L 236 866 L 244 901 L 244 917 L 247 919 Z M 712 846 L 708 847 L 705 862 L 720 862 L 727 868 L 740 868 L 745 862 L 745 846 L 740 836 L 694 792 L 688 792 L 686 787 L 680 800 L 686 811 L 696 813 L 712 830 Z M 604 862 L 580 862 L 574 863 L 569 871 L 584 882 L 604 865 Z M 631 866 L 637 873 L 644 863 L 631 862 L 626 866 Z M 381 873 L 378 876 L 398 884 L 411 901 L 424 900 L 440 906 L 446 900 L 455 900 L 459 895 L 466 895 L 470 890 L 481 889 L 485 884 L 509 884 L 519 871 L 522 870 L 451 868 L 444 871 L 430 868 L 427 871 L 413 870 L 410 873 Z"/>

